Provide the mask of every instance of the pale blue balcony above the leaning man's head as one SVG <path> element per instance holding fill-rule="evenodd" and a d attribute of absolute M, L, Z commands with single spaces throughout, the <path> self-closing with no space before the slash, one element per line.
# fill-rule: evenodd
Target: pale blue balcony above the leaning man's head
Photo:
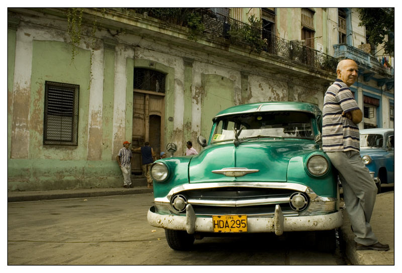
<path fill-rule="evenodd" d="M 334 57 L 355 60 L 359 64 L 359 73 L 368 74 L 371 72 L 378 74 L 381 78 L 393 78 L 393 68 L 386 68 L 382 66 L 377 58 L 364 52 L 363 50 L 347 44 L 334 45 L 334 49 Z"/>

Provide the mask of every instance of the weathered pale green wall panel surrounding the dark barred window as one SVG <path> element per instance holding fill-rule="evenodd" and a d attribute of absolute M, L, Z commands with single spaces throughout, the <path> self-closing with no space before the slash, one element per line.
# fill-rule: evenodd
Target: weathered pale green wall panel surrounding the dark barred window
<path fill-rule="evenodd" d="M 33 41 L 30 159 L 86 160 L 88 137 L 90 52 L 78 49 L 71 61 L 71 46 L 62 42 Z M 79 85 L 78 146 L 43 145 L 45 81 Z"/>

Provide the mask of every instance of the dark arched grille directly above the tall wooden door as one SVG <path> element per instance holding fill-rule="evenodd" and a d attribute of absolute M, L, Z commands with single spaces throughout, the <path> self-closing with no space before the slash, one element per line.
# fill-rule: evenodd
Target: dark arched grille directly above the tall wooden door
<path fill-rule="evenodd" d="M 165 74 L 146 68 L 134 68 L 134 89 L 165 93 Z"/>

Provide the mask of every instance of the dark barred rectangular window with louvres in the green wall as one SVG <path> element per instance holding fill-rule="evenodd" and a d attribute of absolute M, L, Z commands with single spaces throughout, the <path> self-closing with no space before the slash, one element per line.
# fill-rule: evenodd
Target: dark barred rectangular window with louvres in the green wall
<path fill-rule="evenodd" d="M 45 82 L 44 145 L 78 145 L 79 85 Z"/>

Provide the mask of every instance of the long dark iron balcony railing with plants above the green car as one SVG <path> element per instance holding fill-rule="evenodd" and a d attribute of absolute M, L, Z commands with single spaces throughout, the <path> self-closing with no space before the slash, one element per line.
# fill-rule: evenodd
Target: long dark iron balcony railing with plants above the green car
<path fill-rule="evenodd" d="M 266 30 L 254 28 L 233 18 L 221 14 L 204 15 L 203 24 L 205 33 L 210 34 L 210 37 L 224 38 L 231 44 L 239 46 L 247 45 L 254 51 L 281 56 L 294 63 L 330 72 L 336 71 L 338 64 L 336 58 L 297 42 L 282 39 Z"/>

